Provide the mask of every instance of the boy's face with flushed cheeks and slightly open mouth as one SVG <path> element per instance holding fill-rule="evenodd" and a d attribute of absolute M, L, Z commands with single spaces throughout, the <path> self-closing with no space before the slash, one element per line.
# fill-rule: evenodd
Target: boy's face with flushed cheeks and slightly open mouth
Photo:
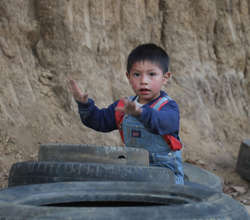
<path fill-rule="evenodd" d="M 170 77 L 170 73 L 163 73 L 159 65 L 150 61 L 140 61 L 133 64 L 130 73 L 126 73 L 139 102 L 146 104 L 160 95 L 162 85 Z"/>

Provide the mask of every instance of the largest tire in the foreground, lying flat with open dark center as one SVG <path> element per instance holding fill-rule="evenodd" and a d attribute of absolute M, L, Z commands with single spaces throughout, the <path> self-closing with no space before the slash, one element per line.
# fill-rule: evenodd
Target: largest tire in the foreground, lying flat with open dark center
<path fill-rule="evenodd" d="M 67 182 L 1 190 L 0 219 L 249 220 L 250 217 L 239 202 L 207 187 Z"/>

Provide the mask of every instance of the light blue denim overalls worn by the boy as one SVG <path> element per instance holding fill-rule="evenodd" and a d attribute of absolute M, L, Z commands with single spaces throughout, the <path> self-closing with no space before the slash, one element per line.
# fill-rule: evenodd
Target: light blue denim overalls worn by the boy
<path fill-rule="evenodd" d="M 163 97 L 153 108 L 170 100 Z M 161 135 L 153 134 L 131 115 L 125 115 L 122 121 L 124 142 L 127 147 L 144 148 L 149 151 L 151 166 L 166 167 L 172 170 L 176 177 L 176 184 L 184 184 L 181 150 L 172 151 Z"/>

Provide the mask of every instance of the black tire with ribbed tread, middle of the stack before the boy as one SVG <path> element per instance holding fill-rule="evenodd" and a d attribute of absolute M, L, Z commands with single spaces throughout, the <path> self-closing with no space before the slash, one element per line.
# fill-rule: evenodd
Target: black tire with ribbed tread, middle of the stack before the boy
<path fill-rule="evenodd" d="M 161 167 L 77 162 L 19 162 L 12 165 L 9 186 L 65 181 L 147 181 L 174 184 L 171 170 Z"/>

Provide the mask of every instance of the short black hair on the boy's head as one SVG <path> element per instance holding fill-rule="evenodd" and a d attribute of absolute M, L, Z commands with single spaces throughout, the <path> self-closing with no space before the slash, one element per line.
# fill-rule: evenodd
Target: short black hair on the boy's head
<path fill-rule="evenodd" d="M 130 72 L 134 63 L 140 61 L 150 61 L 158 64 L 163 73 L 168 72 L 168 54 L 161 47 L 153 43 L 141 44 L 131 51 L 127 60 L 127 72 Z"/>

